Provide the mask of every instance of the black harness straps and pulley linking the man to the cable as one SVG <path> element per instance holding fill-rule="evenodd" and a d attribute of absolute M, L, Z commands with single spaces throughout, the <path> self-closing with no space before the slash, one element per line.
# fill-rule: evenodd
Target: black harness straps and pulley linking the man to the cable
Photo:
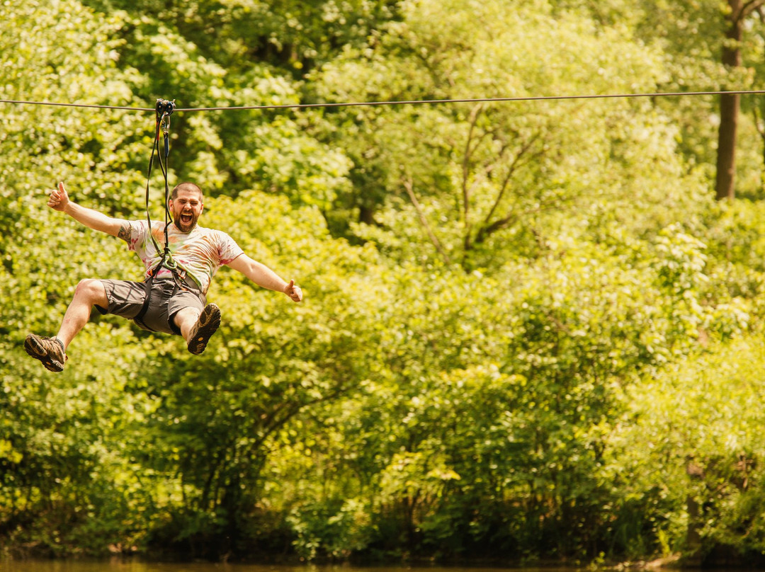
<path fill-rule="evenodd" d="M 146 297 L 144 299 L 141 310 L 138 310 L 138 314 L 136 314 L 135 318 L 133 318 L 135 323 L 138 323 L 138 326 L 145 328 L 146 330 L 151 330 L 151 328 L 148 327 L 143 321 L 143 317 L 145 316 L 149 304 L 151 303 L 151 285 L 154 283 L 155 277 L 158 275 L 163 266 L 171 272 L 173 277 L 173 281 L 175 283 L 173 294 L 175 294 L 177 290 L 188 289 L 184 285 L 184 279 L 181 278 L 179 273 L 180 267 L 177 265 L 177 262 L 175 262 L 173 255 L 170 252 L 170 241 L 168 239 L 168 226 L 170 226 L 170 223 L 172 222 L 172 213 L 170 211 L 169 205 L 170 185 L 168 184 L 168 155 L 170 154 L 170 115 L 172 115 L 174 109 L 174 100 L 168 101 L 167 99 L 157 99 L 157 105 L 155 107 L 155 111 L 157 112 L 157 125 L 155 128 L 154 142 L 151 147 L 151 158 L 149 158 L 148 161 L 148 173 L 146 175 L 146 221 L 148 223 L 148 236 L 151 238 L 151 242 L 154 243 L 157 252 L 162 250 L 162 255 L 158 264 L 148 271 L 148 278 L 146 278 L 144 281 Z M 159 149 L 160 132 L 164 141 L 164 161 L 162 161 L 162 154 L 160 153 Z M 159 167 L 161 168 L 162 175 L 164 176 L 164 249 L 160 248 L 160 245 L 154 237 L 154 233 L 151 232 L 151 215 L 148 208 L 149 181 L 151 180 L 151 167 L 154 164 L 155 154 L 157 154 Z"/>

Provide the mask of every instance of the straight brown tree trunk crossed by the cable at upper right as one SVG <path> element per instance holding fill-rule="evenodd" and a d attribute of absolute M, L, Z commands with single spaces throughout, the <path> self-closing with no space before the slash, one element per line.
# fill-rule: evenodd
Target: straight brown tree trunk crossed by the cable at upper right
<path fill-rule="evenodd" d="M 741 22 L 742 0 L 728 0 L 731 14 L 728 16 L 728 31 L 722 48 L 722 63 L 731 70 L 741 66 Z M 717 180 L 715 192 L 718 200 L 734 199 L 736 170 L 736 132 L 741 96 L 720 96 L 720 128 L 718 131 Z"/>

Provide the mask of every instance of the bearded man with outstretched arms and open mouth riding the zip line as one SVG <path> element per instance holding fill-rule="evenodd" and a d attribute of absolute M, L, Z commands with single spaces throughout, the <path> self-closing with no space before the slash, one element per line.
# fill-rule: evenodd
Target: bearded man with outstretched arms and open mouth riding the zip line
<path fill-rule="evenodd" d="M 200 187 L 193 183 L 177 185 L 168 205 L 173 219 L 167 229 L 171 261 L 156 268 L 164 252 L 164 223 L 152 221 L 150 226 L 145 220 L 127 221 L 106 216 L 74 203 L 63 183 L 58 184 L 50 193 L 47 206 L 67 213 L 90 229 L 127 242 L 129 249 L 141 257 L 147 281 L 92 278 L 80 281 L 57 335 L 49 338 L 31 333 L 27 336 L 24 349 L 30 356 L 39 359 L 51 372 L 63 371 L 67 347 L 90 319 L 93 306 L 101 314 L 135 320 L 145 330 L 181 335 L 190 353 L 198 355 L 220 326 L 220 309 L 215 304 L 207 304 L 206 294 L 210 281 L 223 265 L 242 272 L 262 288 L 284 292 L 292 301 L 303 299 L 294 280 L 286 282 L 265 265 L 249 258 L 225 232 L 197 225 L 204 209 Z M 176 271 L 168 268 L 173 265 L 177 265 Z M 149 279 L 152 274 L 153 278 Z M 148 304 L 145 304 L 147 297 Z"/>

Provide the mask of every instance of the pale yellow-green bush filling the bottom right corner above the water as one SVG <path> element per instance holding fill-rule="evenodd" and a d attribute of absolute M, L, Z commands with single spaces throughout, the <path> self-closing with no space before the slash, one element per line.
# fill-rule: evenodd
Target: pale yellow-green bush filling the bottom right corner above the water
<path fill-rule="evenodd" d="M 611 469 L 658 509 L 668 550 L 762 553 L 760 338 L 698 356 L 626 395 Z"/>

